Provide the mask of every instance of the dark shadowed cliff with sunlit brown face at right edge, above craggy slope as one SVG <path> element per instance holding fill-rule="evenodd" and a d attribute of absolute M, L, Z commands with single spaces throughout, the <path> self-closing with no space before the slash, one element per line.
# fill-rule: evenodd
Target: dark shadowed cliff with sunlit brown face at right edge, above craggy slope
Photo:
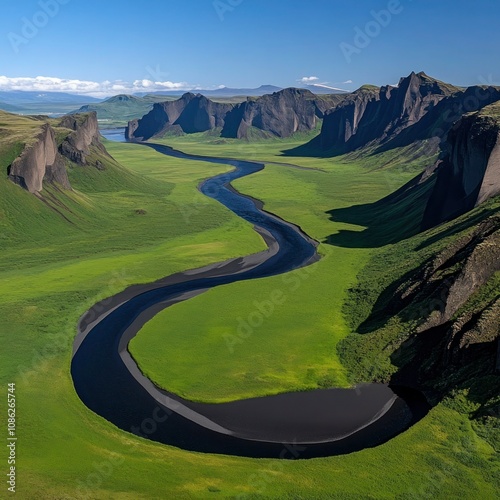
<path fill-rule="evenodd" d="M 453 126 L 436 171 L 423 229 L 500 194 L 500 104 L 465 115 Z"/>

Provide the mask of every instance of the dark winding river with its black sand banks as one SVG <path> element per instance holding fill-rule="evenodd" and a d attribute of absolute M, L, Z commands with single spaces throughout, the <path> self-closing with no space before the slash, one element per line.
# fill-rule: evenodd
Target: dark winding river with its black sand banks
<path fill-rule="evenodd" d="M 120 139 L 116 132 L 108 137 Z M 377 446 L 427 413 L 429 406 L 417 391 L 383 384 L 205 404 L 180 398 L 147 379 L 127 346 L 159 311 L 210 288 L 286 273 L 319 257 L 317 243 L 300 228 L 264 211 L 260 202 L 230 186 L 232 180 L 264 165 L 186 155 L 151 143 L 144 147 L 233 166 L 231 172 L 205 181 L 200 190 L 251 222 L 268 249 L 132 286 L 90 309 L 78 324 L 71 363 L 76 392 L 88 408 L 120 429 L 186 450 L 285 459 Z"/>

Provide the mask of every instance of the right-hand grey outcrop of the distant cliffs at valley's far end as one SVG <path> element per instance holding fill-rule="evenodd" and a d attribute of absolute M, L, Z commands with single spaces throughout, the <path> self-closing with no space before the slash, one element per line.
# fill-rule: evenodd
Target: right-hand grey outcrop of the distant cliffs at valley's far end
<path fill-rule="evenodd" d="M 289 88 L 247 99 L 228 113 L 221 136 L 247 138 L 253 127 L 276 137 L 313 130 L 327 109 L 336 106 L 344 95 L 318 97 L 309 90 Z"/>

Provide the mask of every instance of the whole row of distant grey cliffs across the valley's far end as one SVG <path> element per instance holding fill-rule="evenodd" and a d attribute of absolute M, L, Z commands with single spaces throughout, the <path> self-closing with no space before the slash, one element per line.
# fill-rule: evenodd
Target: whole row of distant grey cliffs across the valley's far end
<path fill-rule="evenodd" d="M 191 134 L 219 128 L 221 137 L 228 138 L 247 138 L 251 129 L 260 130 L 264 136 L 288 137 L 294 132 L 313 130 L 325 111 L 344 97 L 285 89 L 234 105 L 187 93 L 177 101 L 155 104 L 143 118 L 130 121 L 125 137 L 147 140 L 166 132 Z"/>

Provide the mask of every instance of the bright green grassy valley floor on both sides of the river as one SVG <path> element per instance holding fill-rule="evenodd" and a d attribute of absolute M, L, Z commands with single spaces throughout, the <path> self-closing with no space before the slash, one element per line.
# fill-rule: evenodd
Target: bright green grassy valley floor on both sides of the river
<path fill-rule="evenodd" d="M 336 351 L 350 333 L 343 305 L 385 242 L 374 247 L 370 228 L 343 217 L 343 209 L 366 204 L 369 210 L 413 174 L 281 156 L 293 140 L 166 142 L 194 154 L 267 162 L 235 187 L 321 242 L 323 258 L 308 269 L 220 287 L 160 313 L 132 343 L 140 366 L 159 385 L 199 401 L 348 386 L 350 373 Z M 466 415 L 443 404 L 382 446 L 302 461 L 185 452 L 126 434 L 91 413 L 69 374 L 83 312 L 130 284 L 264 248 L 249 224 L 196 189 L 226 167 L 166 158 L 140 145 L 106 147 L 130 174 L 126 187 L 116 188 L 119 176 L 107 188 L 79 184 L 75 173 L 73 186 L 86 194 L 71 195 L 85 206 L 79 212 L 74 199 L 67 201 L 75 212 L 72 226 L 45 233 L 44 219 L 50 226 L 57 216 L 40 209 L 35 219 L 22 215 L 16 222 L 41 227 L 36 239 L 1 242 L 0 336 L 8 357 L 0 374 L 4 387 L 17 385 L 19 498 L 496 497 L 495 450 Z M 2 189 L 17 199 L 17 186 Z M 387 233 L 397 224 L 389 224 Z M 14 229 L 5 234 L 17 234 Z M 247 328 L 276 291 L 286 300 Z"/>

